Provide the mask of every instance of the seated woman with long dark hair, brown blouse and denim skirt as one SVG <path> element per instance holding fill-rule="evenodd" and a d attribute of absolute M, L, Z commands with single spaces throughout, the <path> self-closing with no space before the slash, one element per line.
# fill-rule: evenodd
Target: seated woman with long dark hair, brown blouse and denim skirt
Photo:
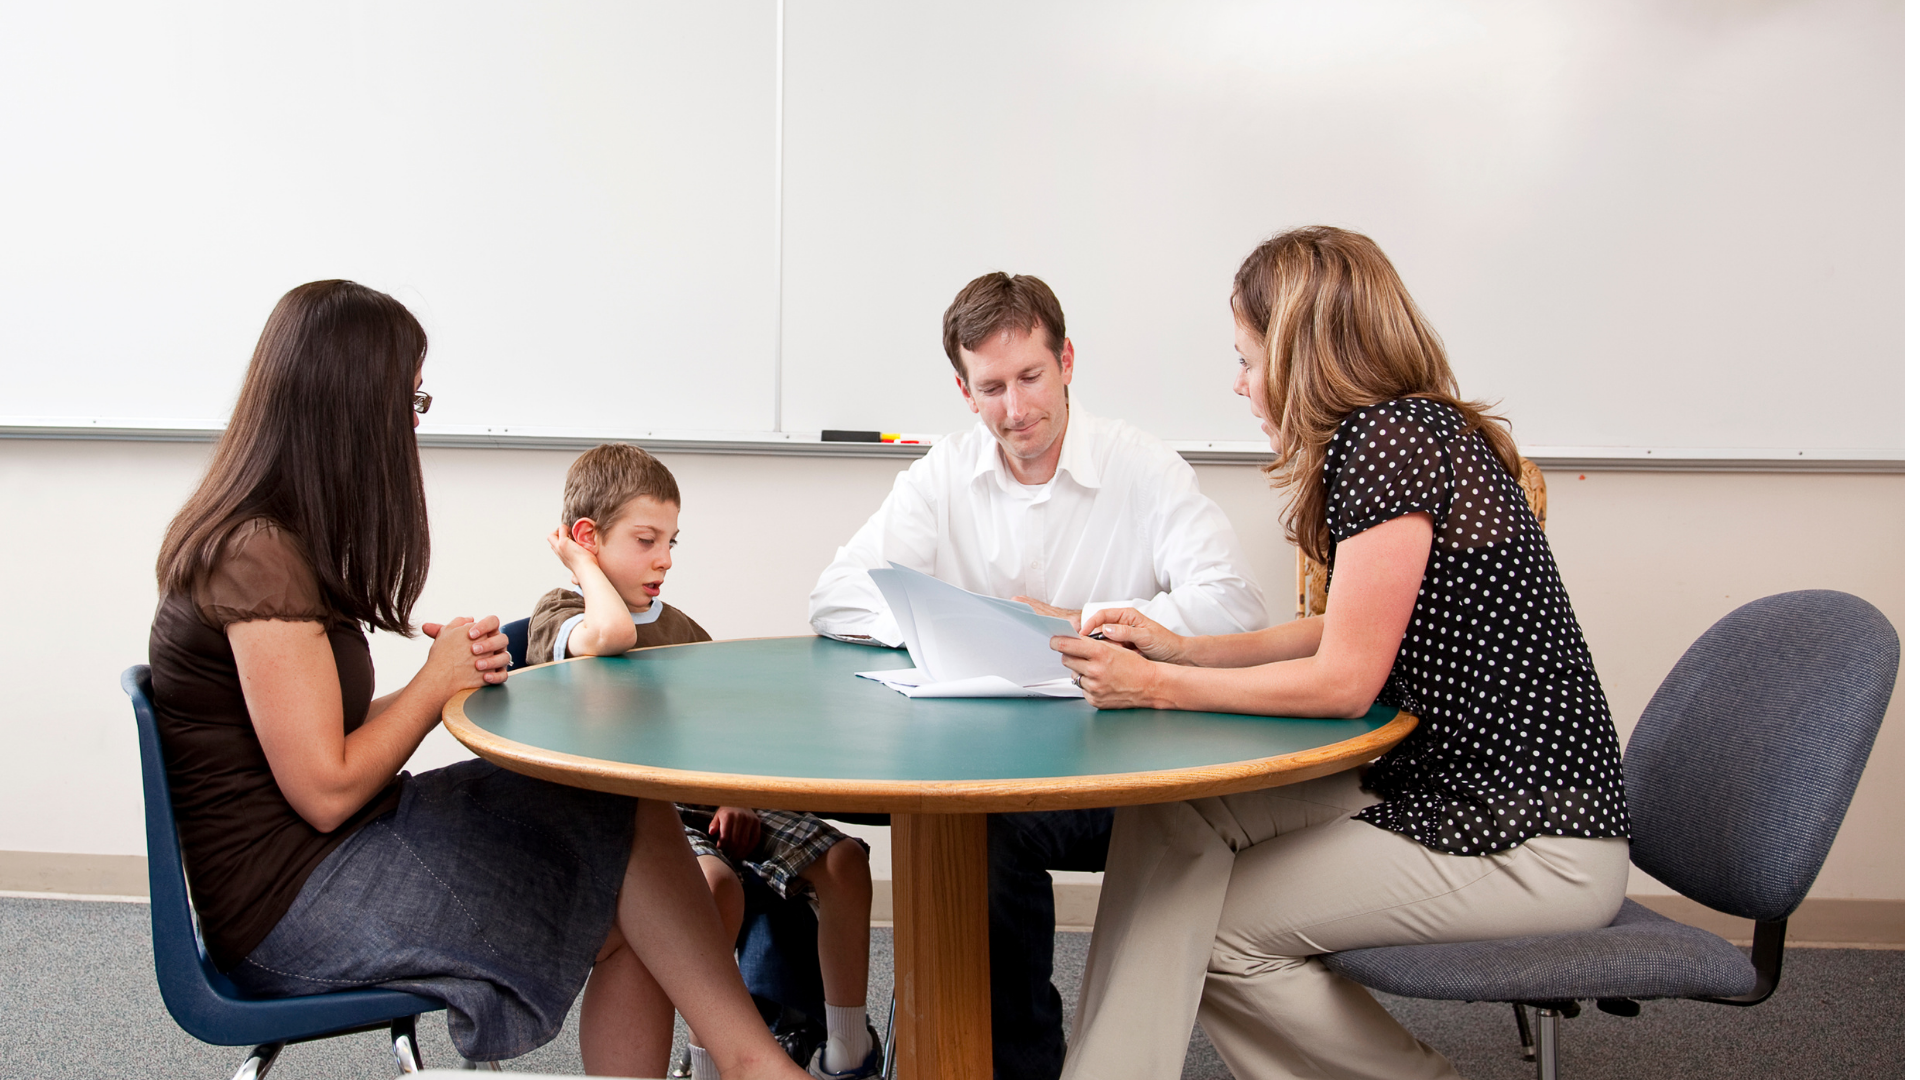
<path fill-rule="evenodd" d="M 420 673 L 372 698 L 363 626 L 411 634 L 426 580 L 424 356 L 392 296 L 288 292 L 161 546 L 154 711 L 207 953 L 261 995 L 445 1001 L 474 1061 L 551 1040 L 586 984 L 588 1072 L 662 1074 L 678 1003 L 722 1072 L 804 1076 L 672 805 L 484 761 L 399 773 L 453 694 L 507 676 L 497 619 L 426 623 Z"/>

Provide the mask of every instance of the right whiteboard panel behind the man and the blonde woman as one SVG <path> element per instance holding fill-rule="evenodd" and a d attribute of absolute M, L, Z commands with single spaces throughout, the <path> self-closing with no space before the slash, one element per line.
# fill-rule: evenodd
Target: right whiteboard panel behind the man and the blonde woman
<path fill-rule="evenodd" d="M 795 2 L 785 417 L 948 430 L 939 317 L 1046 279 L 1073 400 L 1258 440 L 1227 290 L 1371 234 L 1532 446 L 1901 432 L 1901 8 Z"/>

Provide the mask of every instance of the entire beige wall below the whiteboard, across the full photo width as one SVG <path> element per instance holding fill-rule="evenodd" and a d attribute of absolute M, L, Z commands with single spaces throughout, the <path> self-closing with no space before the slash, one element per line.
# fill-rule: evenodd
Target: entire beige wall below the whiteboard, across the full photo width
<path fill-rule="evenodd" d="M 140 773 L 117 675 L 146 657 L 152 559 L 204 444 L 0 440 L 0 851 L 138 855 Z M 572 454 L 424 452 L 434 575 L 420 619 L 526 613 L 563 573 L 543 532 Z M 666 598 L 716 636 L 806 632 L 806 592 L 899 463 L 668 457 L 685 492 Z M 1252 467 L 1200 467 L 1248 546 L 1267 607 L 1292 611 L 1292 552 Z M 1622 732 L 1695 634 L 1788 588 L 1841 588 L 1905 638 L 1903 479 L 1549 473 L 1548 534 Z M 382 692 L 422 646 L 376 636 Z M 1820 897 L 1903 892 L 1903 692 L 1895 690 Z M 413 767 L 465 751 L 436 732 Z M 876 876 L 889 876 L 877 851 Z M 1661 892 L 1638 878 L 1630 892 Z"/>

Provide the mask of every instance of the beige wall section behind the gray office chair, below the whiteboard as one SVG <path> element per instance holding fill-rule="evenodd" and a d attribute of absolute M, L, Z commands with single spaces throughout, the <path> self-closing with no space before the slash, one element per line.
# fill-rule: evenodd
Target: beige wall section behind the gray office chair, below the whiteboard
<path fill-rule="evenodd" d="M 1548 538 L 1620 724 L 1734 607 L 1791 588 L 1857 594 L 1907 640 L 1903 477 L 1548 473 Z M 1905 665 L 1812 896 L 1905 897 Z M 1634 871 L 1628 892 L 1667 892 Z"/>

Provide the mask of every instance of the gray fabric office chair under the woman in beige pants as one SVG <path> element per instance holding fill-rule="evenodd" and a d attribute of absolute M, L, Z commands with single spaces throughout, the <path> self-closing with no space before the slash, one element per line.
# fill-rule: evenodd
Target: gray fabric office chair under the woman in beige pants
<path fill-rule="evenodd" d="M 1559 1020 L 1580 1001 L 1622 1017 L 1649 997 L 1759 1005 L 1780 984 L 1788 917 L 1853 801 L 1899 659 L 1893 626 L 1857 596 L 1755 600 L 1693 642 L 1626 744 L 1634 865 L 1753 919 L 1751 957 L 1628 899 L 1601 930 L 1352 949 L 1323 963 L 1402 997 L 1513 1003 L 1542 1080 L 1559 1076 Z"/>

